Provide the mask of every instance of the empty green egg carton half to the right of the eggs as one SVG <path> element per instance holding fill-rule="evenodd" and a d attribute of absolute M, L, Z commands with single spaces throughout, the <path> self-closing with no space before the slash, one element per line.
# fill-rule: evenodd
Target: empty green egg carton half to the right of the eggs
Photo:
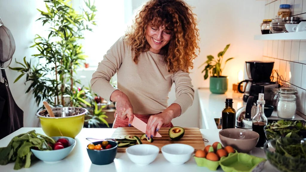
<path fill-rule="evenodd" d="M 267 159 L 248 155 L 246 153 L 234 153 L 222 157 L 219 164 L 225 172 L 258 172 L 263 170 Z"/>

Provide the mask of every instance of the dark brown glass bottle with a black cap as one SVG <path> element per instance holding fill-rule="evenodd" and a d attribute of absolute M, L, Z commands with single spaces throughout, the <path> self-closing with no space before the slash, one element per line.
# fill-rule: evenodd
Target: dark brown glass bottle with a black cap
<path fill-rule="evenodd" d="M 233 99 L 226 98 L 225 108 L 222 110 L 222 129 L 235 128 L 236 110 L 233 108 Z"/>

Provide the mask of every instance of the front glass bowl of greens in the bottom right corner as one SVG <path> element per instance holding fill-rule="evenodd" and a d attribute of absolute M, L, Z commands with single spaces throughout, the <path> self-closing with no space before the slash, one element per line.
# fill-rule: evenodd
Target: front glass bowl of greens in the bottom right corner
<path fill-rule="evenodd" d="M 264 144 L 268 161 L 282 172 L 304 172 L 306 139 L 282 137 Z"/>

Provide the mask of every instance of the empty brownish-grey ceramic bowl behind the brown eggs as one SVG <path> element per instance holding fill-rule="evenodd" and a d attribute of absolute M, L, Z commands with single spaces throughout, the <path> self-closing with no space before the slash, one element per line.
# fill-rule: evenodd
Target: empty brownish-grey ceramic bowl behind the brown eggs
<path fill-rule="evenodd" d="M 232 146 L 238 152 L 248 153 L 255 148 L 259 134 L 248 129 L 222 129 L 219 137 L 224 147 Z"/>

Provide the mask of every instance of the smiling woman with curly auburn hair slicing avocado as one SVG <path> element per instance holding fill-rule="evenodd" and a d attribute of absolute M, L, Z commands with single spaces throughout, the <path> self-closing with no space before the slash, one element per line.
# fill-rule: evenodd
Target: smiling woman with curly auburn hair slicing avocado
<path fill-rule="evenodd" d="M 147 123 L 150 139 L 192 105 L 189 68 L 200 50 L 196 26 L 196 15 L 183 0 L 150 0 L 142 7 L 91 79 L 94 92 L 116 102 L 113 128 L 131 126 L 135 115 Z M 118 88 L 109 82 L 115 73 Z M 168 106 L 173 83 L 176 100 Z"/>

